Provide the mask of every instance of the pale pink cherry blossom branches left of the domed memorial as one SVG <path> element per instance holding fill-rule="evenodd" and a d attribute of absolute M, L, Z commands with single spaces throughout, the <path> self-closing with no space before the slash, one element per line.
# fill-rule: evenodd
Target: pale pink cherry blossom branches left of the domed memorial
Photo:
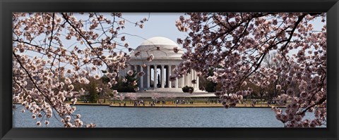
<path fill-rule="evenodd" d="M 86 91 L 75 91 L 73 84 L 89 84 L 106 69 L 109 87 L 116 84 L 119 70 L 128 65 L 125 50 L 133 51 L 125 24 L 143 28 L 145 21 L 131 22 L 121 13 L 13 13 L 13 103 L 29 110 L 38 126 L 56 117 L 64 127 L 95 127 L 74 114 L 72 104 Z"/>

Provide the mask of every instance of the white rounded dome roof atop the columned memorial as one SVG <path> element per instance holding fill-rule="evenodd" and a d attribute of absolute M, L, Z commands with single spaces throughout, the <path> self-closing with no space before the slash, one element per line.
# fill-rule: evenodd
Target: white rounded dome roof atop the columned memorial
<path fill-rule="evenodd" d="M 174 47 L 177 47 L 179 51 L 174 53 Z M 140 53 L 139 56 L 135 56 L 136 53 Z M 145 59 L 150 54 L 153 54 L 154 59 L 181 59 L 182 48 L 177 43 L 166 37 L 152 37 L 141 43 L 132 53 L 132 59 Z"/>

